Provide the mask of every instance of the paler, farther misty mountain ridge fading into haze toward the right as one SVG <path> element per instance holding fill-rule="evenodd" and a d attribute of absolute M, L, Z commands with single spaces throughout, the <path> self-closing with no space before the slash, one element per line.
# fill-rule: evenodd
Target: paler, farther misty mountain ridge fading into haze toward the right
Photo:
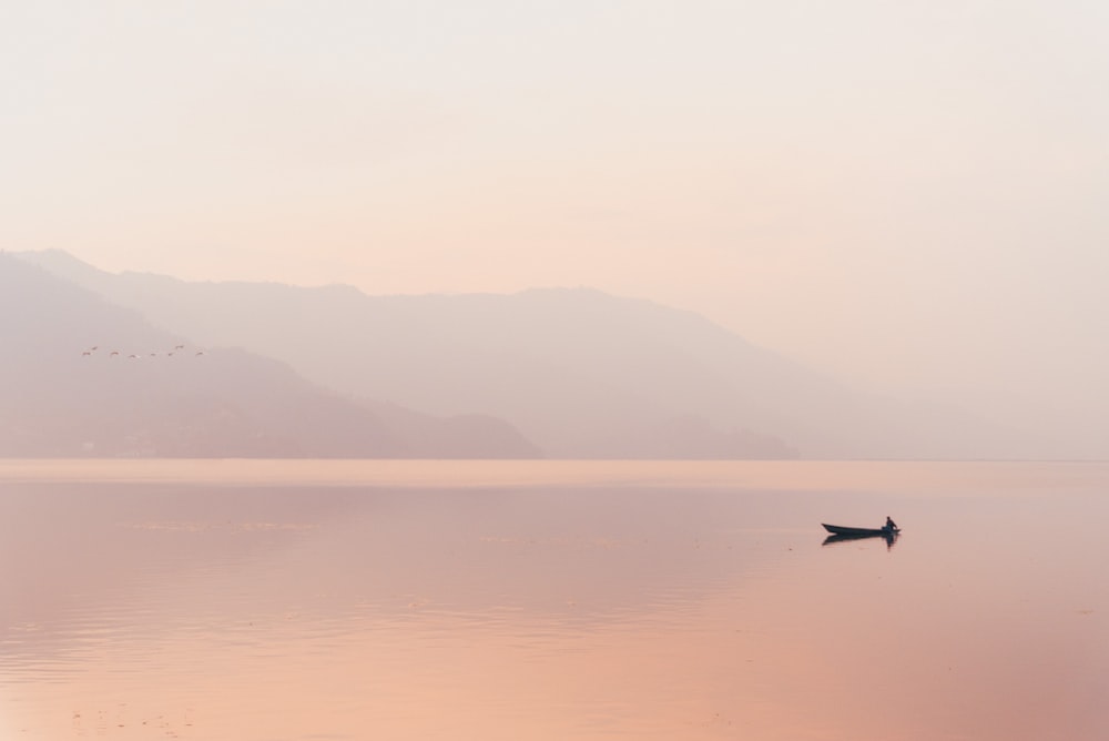
<path fill-rule="evenodd" d="M 702 316 L 587 288 L 369 296 L 20 257 L 338 393 L 506 419 L 552 457 L 980 458 L 1027 445 L 954 407 L 858 393 Z"/>

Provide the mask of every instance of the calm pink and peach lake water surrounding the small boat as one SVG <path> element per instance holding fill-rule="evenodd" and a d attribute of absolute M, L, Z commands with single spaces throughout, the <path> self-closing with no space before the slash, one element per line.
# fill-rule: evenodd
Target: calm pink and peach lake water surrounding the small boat
<path fill-rule="evenodd" d="M 1105 739 L 1107 522 L 1093 464 L 0 461 L 0 739 Z"/>

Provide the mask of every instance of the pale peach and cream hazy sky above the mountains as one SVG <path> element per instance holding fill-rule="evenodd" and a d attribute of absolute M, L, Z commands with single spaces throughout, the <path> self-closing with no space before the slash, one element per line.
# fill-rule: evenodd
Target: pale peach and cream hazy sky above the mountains
<path fill-rule="evenodd" d="M 867 380 L 1109 406 L 1107 38 L 1093 0 L 9 2 L 0 237 L 589 285 Z"/>

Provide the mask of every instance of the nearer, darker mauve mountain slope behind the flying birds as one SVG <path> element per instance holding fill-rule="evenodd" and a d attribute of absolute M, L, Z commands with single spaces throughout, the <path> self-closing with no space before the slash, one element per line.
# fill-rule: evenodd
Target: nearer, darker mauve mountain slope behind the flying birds
<path fill-rule="evenodd" d="M 0 255 L 0 456 L 533 457 L 488 417 L 438 419 L 204 348 Z"/>

